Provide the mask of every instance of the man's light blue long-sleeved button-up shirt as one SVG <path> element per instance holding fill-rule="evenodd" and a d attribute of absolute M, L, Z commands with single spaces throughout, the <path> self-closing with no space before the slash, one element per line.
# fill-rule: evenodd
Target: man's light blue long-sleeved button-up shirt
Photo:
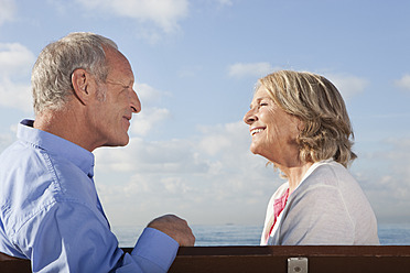
<path fill-rule="evenodd" d="M 99 201 L 89 151 L 19 124 L 0 155 L 0 252 L 33 272 L 166 272 L 179 244 L 145 228 L 131 253 L 118 248 Z"/>

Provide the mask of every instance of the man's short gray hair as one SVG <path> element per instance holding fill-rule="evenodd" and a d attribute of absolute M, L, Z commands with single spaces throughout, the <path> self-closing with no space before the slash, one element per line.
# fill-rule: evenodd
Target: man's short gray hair
<path fill-rule="evenodd" d="M 34 113 L 64 107 L 73 96 L 72 75 L 77 68 L 105 81 L 108 66 L 104 47 L 118 50 L 111 40 L 85 32 L 71 33 L 45 46 L 31 76 Z"/>

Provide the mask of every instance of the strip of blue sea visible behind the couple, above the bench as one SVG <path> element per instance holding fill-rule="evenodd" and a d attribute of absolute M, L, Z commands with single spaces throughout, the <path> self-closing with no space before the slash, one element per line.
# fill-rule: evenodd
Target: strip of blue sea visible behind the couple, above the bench
<path fill-rule="evenodd" d="M 195 247 L 216 245 L 259 245 L 261 226 L 191 226 L 196 238 Z M 143 227 L 112 227 L 119 247 L 132 248 Z M 382 245 L 410 245 L 410 223 L 381 223 L 378 226 L 379 240 Z"/>

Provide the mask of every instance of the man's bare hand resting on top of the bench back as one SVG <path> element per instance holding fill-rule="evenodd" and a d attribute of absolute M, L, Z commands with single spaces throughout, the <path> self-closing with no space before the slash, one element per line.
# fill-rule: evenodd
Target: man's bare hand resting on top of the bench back
<path fill-rule="evenodd" d="M 174 215 L 164 215 L 153 219 L 147 226 L 158 229 L 177 241 L 181 247 L 194 247 L 195 237 L 184 219 Z"/>

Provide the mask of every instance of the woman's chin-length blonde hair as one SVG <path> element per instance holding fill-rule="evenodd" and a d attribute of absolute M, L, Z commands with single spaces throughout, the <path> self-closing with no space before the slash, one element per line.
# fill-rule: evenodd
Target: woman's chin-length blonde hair
<path fill-rule="evenodd" d="M 352 151 L 354 133 L 345 102 L 325 77 L 279 70 L 260 78 L 258 85 L 263 86 L 285 112 L 303 122 L 296 139 L 302 161 L 333 159 L 347 167 L 357 157 Z"/>

